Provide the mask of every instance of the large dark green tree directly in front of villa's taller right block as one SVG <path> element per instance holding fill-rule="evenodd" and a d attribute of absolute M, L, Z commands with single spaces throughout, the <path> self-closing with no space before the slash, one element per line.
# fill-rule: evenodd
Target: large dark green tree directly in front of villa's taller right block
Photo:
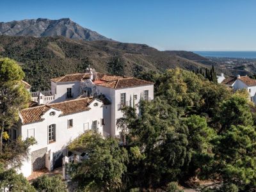
<path fill-rule="evenodd" d="M 132 115 L 132 110 L 126 110 L 124 116 L 129 129 L 129 164 L 124 182 L 128 188 L 157 188 L 176 181 L 180 168 L 188 162 L 186 127 L 166 100 L 143 101 L 140 110 L 140 116 Z"/>

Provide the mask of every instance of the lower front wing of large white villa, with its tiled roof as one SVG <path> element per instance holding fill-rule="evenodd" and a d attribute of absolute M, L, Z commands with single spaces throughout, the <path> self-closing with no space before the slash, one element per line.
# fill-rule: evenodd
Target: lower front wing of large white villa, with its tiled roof
<path fill-rule="evenodd" d="M 66 146 L 79 134 L 92 130 L 103 135 L 105 107 L 102 101 L 86 97 L 20 111 L 20 122 L 12 131 L 19 133 L 22 140 L 33 136 L 37 142 L 30 147 L 20 172 L 28 177 L 45 167 L 58 168 L 67 155 Z"/>

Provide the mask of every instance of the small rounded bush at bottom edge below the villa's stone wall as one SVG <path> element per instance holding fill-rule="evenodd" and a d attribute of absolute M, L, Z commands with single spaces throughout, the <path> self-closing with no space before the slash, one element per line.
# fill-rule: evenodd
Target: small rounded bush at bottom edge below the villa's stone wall
<path fill-rule="evenodd" d="M 63 192 L 67 191 L 67 186 L 65 182 L 62 181 L 61 175 L 55 175 L 53 177 L 49 177 L 47 175 L 42 175 L 41 177 L 37 177 L 32 186 L 38 192 Z"/>

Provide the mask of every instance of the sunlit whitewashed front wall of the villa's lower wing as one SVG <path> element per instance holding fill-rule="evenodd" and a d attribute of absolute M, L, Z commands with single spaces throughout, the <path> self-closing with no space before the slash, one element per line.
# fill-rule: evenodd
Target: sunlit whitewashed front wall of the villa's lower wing
<path fill-rule="evenodd" d="M 99 105 L 93 106 L 95 102 L 99 103 Z M 85 127 L 85 125 L 88 124 L 89 129 L 92 129 L 92 122 L 94 120 L 98 121 L 99 132 L 103 134 L 103 129 L 100 125 L 100 120 L 103 118 L 102 102 L 94 100 L 90 104 L 90 108 L 92 108 L 90 111 L 83 111 L 81 113 L 65 116 L 59 116 L 61 111 L 50 109 L 44 114 L 44 120 L 42 122 L 22 125 L 20 129 L 22 140 L 25 140 L 28 137 L 28 132 L 34 132 L 34 137 L 37 143 L 30 147 L 30 152 L 47 147 L 47 151 L 51 150 L 51 153 L 53 153 L 64 149 L 70 141 L 86 131 L 85 129 L 87 129 L 87 126 Z M 54 116 L 49 115 L 52 111 L 56 113 Z M 73 119 L 72 128 L 68 128 L 68 119 Z M 54 143 L 48 143 L 48 126 L 51 124 L 56 124 L 56 141 Z M 29 159 L 29 162 L 31 162 L 31 159 Z M 29 167 L 29 162 L 24 162 L 24 165 L 21 168 L 22 173 L 26 177 L 31 175 L 32 165 L 30 163 Z"/>

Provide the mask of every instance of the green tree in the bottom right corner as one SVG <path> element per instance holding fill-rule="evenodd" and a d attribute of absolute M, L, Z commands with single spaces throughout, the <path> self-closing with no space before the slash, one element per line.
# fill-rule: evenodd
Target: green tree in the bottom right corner
<path fill-rule="evenodd" d="M 255 127 L 232 125 L 214 140 L 214 171 L 225 185 L 234 184 L 239 191 L 256 188 L 255 138 Z"/>

